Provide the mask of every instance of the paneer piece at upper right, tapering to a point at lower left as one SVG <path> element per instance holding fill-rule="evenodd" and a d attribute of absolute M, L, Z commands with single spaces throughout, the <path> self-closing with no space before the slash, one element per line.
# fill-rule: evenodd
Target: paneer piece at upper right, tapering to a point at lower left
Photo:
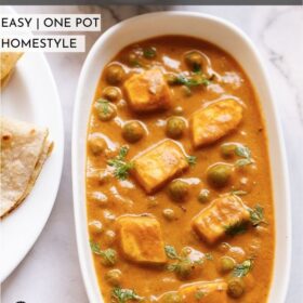
<path fill-rule="evenodd" d="M 242 106 L 233 98 L 218 101 L 193 114 L 192 140 L 195 147 L 215 142 L 235 130 L 242 119 Z"/>

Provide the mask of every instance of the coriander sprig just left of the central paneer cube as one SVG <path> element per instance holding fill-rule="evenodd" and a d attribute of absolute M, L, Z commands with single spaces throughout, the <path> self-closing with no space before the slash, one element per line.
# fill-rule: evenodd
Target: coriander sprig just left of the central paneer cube
<path fill-rule="evenodd" d="M 119 150 L 118 156 L 113 159 L 107 160 L 107 164 L 109 167 L 115 168 L 114 175 L 118 180 L 127 180 L 129 176 L 129 171 L 133 168 L 133 162 L 127 162 L 124 160 L 128 155 L 129 148 L 127 146 L 122 146 Z"/>

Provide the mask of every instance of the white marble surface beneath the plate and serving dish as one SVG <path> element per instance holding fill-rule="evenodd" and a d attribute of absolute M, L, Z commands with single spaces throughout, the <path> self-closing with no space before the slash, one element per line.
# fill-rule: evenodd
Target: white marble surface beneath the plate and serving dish
<path fill-rule="evenodd" d="M 293 260 L 287 303 L 303 298 L 303 10 L 302 6 L 16 6 L 26 13 L 102 13 L 104 29 L 149 11 L 200 11 L 242 28 L 267 65 L 286 141 L 292 194 Z M 190 34 L 190 32 L 188 32 Z M 100 34 L 88 34 L 87 51 Z M 70 135 L 75 89 L 87 54 L 48 54 L 65 119 L 65 164 L 51 218 L 22 264 L 2 285 L 2 302 L 88 302 L 79 269 L 71 197 Z"/>

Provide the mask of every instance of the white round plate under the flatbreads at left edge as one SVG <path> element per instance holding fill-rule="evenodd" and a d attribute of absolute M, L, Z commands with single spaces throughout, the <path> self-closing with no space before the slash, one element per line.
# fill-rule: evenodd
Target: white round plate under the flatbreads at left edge
<path fill-rule="evenodd" d="M 13 14 L 1 6 L 0 14 Z M 1 116 L 49 129 L 54 149 L 29 196 L 0 223 L 0 282 L 30 250 L 53 208 L 63 167 L 64 128 L 60 97 L 50 66 L 42 53 L 26 53 L 1 92 Z"/>

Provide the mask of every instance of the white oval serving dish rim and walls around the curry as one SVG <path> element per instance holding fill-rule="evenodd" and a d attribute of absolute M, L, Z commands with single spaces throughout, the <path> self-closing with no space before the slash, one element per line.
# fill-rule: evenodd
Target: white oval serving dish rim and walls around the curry
<path fill-rule="evenodd" d="M 268 133 L 276 211 L 275 269 L 268 302 L 285 302 L 291 258 L 289 180 L 284 140 L 264 65 L 255 47 L 239 28 L 222 18 L 188 12 L 152 13 L 115 25 L 98 38 L 82 67 L 74 113 L 73 187 L 78 252 L 90 302 L 103 302 L 89 247 L 84 175 L 88 121 L 101 71 L 130 43 L 162 35 L 188 34 L 232 54 L 249 76 L 261 101 Z"/>

